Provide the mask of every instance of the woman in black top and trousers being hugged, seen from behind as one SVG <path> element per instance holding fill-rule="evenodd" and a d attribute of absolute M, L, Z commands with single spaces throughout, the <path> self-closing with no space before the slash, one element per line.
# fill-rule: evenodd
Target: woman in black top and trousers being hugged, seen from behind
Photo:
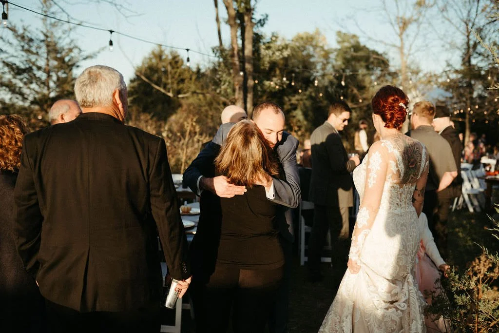
<path fill-rule="evenodd" d="M 256 183 L 266 174 L 277 175 L 277 162 L 260 130 L 244 120 L 229 132 L 215 164 L 218 174 L 246 186 L 247 192 L 220 199 L 214 272 L 196 288 L 197 331 L 226 332 L 232 311 L 234 332 L 263 332 L 282 279 L 284 257 L 277 238 L 276 205 Z"/>

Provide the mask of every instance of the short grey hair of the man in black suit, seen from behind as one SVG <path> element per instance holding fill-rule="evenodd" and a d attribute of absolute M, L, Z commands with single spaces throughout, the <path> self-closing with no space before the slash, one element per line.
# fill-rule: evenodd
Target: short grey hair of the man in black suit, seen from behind
<path fill-rule="evenodd" d="M 111 106 L 116 89 L 124 102 L 127 89 L 123 75 L 114 68 L 102 65 L 86 68 L 74 84 L 74 94 L 81 107 Z"/>

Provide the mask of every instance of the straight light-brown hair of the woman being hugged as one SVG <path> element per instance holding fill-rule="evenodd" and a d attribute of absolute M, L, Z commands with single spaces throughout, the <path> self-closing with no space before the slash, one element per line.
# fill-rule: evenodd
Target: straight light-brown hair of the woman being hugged
<path fill-rule="evenodd" d="M 231 128 L 215 159 L 215 167 L 232 184 L 249 188 L 264 173 L 274 176 L 279 172 L 272 148 L 250 120 L 241 120 Z"/>

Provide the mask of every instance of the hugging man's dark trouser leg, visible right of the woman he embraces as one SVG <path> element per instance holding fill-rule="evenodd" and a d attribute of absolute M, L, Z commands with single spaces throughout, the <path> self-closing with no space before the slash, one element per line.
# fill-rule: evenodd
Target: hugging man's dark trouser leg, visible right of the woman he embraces
<path fill-rule="evenodd" d="M 270 333 L 288 332 L 289 289 L 291 288 L 291 262 L 293 260 L 293 243 L 279 236 L 279 242 L 284 254 L 282 280 L 277 288 L 275 306 L 268 320 Z"/>

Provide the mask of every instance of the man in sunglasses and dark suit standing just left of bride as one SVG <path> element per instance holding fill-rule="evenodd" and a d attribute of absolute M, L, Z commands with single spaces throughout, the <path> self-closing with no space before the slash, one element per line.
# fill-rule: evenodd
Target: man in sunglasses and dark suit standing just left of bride
<path fill-rule="evenodd" d="M 340 259 L 341 254 L 348 253 L 348 249 L 342 249 L 338 241 L 349 237 L 348 208 L 353 205 L 353 180 L 350 173 L 359 165 L 358 156 L 348 159 L 339 134 L 349 119 L 348 104 L 333 102 L 329 106 L 327 120 L 310 137 L 312 177 L 309 200 L 314 203 L 314 220 L 308 242 L 307 265 L 312 282 L 322 280 L 320 258 L 328 229 L 333 254 L 337 254 Z"/>

